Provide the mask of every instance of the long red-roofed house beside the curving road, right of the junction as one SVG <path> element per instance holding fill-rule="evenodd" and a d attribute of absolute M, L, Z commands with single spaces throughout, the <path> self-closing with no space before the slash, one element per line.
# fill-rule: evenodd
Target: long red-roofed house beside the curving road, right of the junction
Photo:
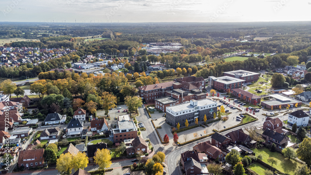
<path fill-rule="evenodd" d="M 201 142 L 197 145 L 194 145 L 193 150 L 198 153 L 205 153 L 208 157 L 215 160 L 223 160 L 225 159 L 225 153 L 223 153 L 219 148 L 216 146 L 211 145 L 211 141 Z"/>

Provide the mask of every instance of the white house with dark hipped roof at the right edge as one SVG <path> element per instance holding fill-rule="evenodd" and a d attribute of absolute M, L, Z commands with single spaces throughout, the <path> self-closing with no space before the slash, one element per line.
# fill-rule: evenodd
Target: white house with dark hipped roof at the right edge
<path fill-rule="evenodd" d="M 308 125 L 309 118 L 310 116 L 303 110 L 296 110 L 288 114 L 287 123 L 289 123 L 290 125 L 296 123 L 298 127 L 299 126 L 306 127 Z"/>

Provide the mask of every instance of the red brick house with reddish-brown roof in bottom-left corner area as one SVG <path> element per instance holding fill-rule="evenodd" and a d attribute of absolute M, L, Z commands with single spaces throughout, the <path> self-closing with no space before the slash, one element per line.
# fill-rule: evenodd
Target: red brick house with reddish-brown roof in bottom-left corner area
<path fill-rule="evenodd" d="M 21 150 L 18 156 L 18 167 L 43 167 L 44 149 L 35 149 L 35 150 Z"/>

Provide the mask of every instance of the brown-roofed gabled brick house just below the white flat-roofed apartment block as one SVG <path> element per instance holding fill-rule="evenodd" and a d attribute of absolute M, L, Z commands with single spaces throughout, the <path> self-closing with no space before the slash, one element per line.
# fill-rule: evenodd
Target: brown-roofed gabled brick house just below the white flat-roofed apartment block
<path fill-rule="evenodd" d="M 138 151 L 142 151 L 143 153 L 148 153 L 148 149 L 149 147 L 146 141 L 143 138 L 137 136 L 135 139 L 132 140 L 132 143 L 126 147 L 126 154 L 134 155 Z"/>

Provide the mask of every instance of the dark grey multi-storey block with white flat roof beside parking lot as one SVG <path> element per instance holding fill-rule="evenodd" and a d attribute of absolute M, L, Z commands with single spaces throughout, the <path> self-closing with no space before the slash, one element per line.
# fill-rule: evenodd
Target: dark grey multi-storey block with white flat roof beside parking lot
<path fill-rule="evenodd" d="M 186 119 L 193 123 L 196 118 L 202 121 L 204 115 L 207 119 L 212 118 L 217 112 L 217 102 L 210 99 L 190 100 L 190 102 L 166 107 L 166 122 L 173 127 L 184 126 Z"/>

